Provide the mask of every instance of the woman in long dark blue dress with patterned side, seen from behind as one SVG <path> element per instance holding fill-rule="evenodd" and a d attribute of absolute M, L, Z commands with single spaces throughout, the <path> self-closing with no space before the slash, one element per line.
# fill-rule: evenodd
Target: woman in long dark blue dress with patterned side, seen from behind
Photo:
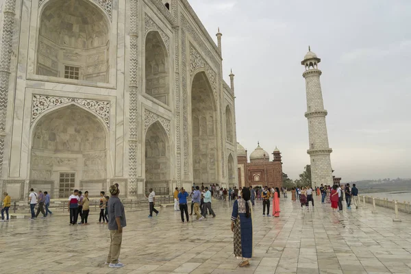
<path fill-rule="evenodd" d="M 253 256 L 253 218 L 249 188 L 242 188 L 241 197 L 234 201 L 232 232 L 234 232 L 234 256 L 242 259 L 239 266 L 247 266 Z"/>

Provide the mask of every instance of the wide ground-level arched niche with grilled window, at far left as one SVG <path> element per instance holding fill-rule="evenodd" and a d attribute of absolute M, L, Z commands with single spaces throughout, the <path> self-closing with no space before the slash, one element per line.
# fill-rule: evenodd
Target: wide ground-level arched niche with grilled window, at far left
<path fill-rule="evenodd" d="M 76 105 L 41 116 L 32 132 L 30 185 L 53 198 L 68 197 L 74 188 L 97 196 L 107 180 L 104 127 Z"/>

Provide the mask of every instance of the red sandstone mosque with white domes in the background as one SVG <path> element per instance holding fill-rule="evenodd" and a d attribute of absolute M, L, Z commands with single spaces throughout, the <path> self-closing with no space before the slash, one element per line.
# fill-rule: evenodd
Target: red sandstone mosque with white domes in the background
<path fill-rule="evenodd" d="M 269 186 L 281 188 L 282 186 L 282 162 L 281 153 L 275 147 L 273 160 L 270 154 L 258 147 L 250 154 L 248 162 L 247 150 L 237 142 L 238 159 L 238 186 Z"/>

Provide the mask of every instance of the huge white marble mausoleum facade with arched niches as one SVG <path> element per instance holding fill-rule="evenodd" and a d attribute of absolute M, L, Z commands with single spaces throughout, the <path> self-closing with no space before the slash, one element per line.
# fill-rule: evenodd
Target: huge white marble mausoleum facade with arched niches
<path fill-rule="evenodd" d="M 234 186 L 234 75 L 187 0 L 0 3 L 0 190 Z"/>

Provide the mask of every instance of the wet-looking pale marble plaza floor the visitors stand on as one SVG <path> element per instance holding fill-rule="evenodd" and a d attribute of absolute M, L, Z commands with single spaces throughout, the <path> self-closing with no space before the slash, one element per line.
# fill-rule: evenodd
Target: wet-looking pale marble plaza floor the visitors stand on
<path fill-rule="evenodd" d="M 329 204 L 301 210 L 281 199 L 279 218 L 254 208 L 254 255 L 240 269 L 233 257 L 228 202 L 213 201 L 215 219 L 180 223 L 172 207 L 153 219 L 129 211 L 123 230 L 123 269 L 104 264 L 109 232 L 69 226 L 69 216 L 0 223 L 0 272 L 8 273 L 411 273 L 411 216 L 371 206 L 333 213 Z"/>

